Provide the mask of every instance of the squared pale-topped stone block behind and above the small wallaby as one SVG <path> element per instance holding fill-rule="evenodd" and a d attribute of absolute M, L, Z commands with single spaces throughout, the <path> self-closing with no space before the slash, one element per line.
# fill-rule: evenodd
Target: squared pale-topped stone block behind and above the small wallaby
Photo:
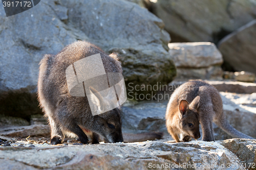
<path fill-rule="evenodd" d="M 222 79 L 222 55 L 211 42 L 168 43 L 178 79 Z"/>

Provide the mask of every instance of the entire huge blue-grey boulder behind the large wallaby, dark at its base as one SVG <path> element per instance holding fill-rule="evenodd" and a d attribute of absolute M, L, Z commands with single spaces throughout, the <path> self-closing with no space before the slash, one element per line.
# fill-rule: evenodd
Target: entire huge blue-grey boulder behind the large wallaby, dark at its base
<path fill-rule="evenodd" d="M 90 41 L 106 53 L 119 52 L 126 83 L 172 81 L 176 72 L 163 27 L 162 20 L 146 9 L 122 0 L 41 1 L 10 17 L 1 12 L 1 113 L 23 117 L 39 113 L 39 61 L 76 40 Z"/>

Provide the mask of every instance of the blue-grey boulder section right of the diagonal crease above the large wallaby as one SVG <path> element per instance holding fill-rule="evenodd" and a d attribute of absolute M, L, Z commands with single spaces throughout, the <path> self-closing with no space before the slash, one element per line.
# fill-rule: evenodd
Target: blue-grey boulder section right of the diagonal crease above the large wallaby
<path fill-rule="evenodd" d="M 80 29 L 104 51 L 119 54 L 126 84 L 166 84 L 176 75 L 164 23 L 147 9 L 113 0 L 61 3 L 69 9 L 69 26 Z"/>

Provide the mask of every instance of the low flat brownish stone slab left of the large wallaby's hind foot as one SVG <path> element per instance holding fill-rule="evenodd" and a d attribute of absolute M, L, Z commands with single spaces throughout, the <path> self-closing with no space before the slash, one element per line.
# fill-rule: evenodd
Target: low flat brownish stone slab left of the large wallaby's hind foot
<path fill-rule="evenodd" d="M 50 128 L 47 125 L 31 125 L 31 126 L 19 126 L 9 127 L 0 130 L 0 135 L 8 137 L 28 137 L 38 135 L 49 135 Z"/>

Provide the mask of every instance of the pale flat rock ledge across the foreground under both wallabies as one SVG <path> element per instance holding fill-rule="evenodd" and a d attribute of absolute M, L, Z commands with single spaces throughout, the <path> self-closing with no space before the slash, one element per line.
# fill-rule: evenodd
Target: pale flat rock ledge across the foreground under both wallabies
<path fill-rule="evenodd" d="M 255 149 L 249 139 L 13 145 L 0 147 L 0 169 L 255 169 Z"/>

